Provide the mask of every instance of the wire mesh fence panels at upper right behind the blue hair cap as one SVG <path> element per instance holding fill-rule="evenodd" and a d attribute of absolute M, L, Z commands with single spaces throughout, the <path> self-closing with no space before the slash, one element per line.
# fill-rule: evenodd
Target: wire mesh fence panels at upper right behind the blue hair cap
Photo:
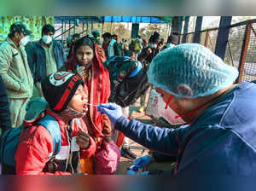
<path fill-rule="evenodd" d="M 230 27 L 224 62 L 239 69 L 238 82 L 256 79 L 256 20 L 247 20 Z M 186 43 L 193 43 L 195 33 L 189 32 Z M 249 35 L 247 37 L 247 35 Z M 201 31 L 200 43 L 215 52 L 218 28 Z M 181 41 L 182 42 L 182 41 Z"/>

